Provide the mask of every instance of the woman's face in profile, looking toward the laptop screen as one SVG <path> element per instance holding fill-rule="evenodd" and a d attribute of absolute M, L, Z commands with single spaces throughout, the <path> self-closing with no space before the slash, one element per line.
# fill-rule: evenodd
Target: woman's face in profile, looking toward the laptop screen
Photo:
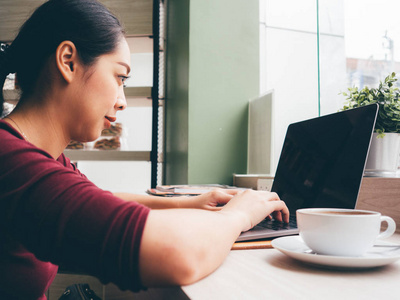
<path fill-rule="evenodd" d="M 130 72 L 130 50 L 122 38 L 114 52 L 100 56 L 82 74 L 80 95 L 74 97 L 75 122 L 71 139 L 93 141 L 126 108 L 124 81 Z"/>

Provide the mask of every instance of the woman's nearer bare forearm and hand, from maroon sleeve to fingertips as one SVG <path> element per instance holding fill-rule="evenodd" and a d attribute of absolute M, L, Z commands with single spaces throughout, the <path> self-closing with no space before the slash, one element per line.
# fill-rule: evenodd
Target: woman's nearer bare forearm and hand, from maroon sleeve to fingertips
<path fill-rule="evenodd" d="M 200 280 L 220 266 L 242 231 L 271 213 L 289 221 L 289 211 L 275 193 L 250 190 L 239 193 L 217 212 L 151 211 L 139 254 L 142 283 L 186 285 Z"/>

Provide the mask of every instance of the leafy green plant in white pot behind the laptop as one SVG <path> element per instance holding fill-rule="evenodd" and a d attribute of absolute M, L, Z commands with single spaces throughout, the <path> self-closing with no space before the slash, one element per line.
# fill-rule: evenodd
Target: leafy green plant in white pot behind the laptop
<path fill-rule="evenodd" d="M 400 151 L 400 90 L 395 86 L 396 73 L 389 74 L 378 88 L 348 88 L 343 110 L 378 103 L 379 111 L 368 154 L 366 172 L 394 172 Z"/>

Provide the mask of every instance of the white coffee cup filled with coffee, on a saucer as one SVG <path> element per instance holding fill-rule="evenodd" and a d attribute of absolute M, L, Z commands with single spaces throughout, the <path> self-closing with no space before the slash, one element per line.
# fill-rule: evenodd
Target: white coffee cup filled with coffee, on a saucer
<path fill-rule="evenodd" d="M 300 237 L 311 250 L 324 255 L 361 256 L 376 239 L 387 238 L 396 230 L 392 218 L 374 211 L 305 208 L 296 215 Z M 380 232 L 382 222 L 387 228 Z"/>

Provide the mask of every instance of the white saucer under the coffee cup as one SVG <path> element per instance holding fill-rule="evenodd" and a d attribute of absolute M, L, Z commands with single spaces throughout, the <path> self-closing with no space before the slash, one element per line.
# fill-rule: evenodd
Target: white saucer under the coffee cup
<path fill-rule="evenodd" d="M 400 245 L 383 241 L 379 241 L 379 244 L 359 257 L 316 254 L 305 245 L 298 235 L 274 239 L 272 246 L 294 259 L 314 265 L 336 268 L 373 268 L 384 266 L 400 259 Z"/>

